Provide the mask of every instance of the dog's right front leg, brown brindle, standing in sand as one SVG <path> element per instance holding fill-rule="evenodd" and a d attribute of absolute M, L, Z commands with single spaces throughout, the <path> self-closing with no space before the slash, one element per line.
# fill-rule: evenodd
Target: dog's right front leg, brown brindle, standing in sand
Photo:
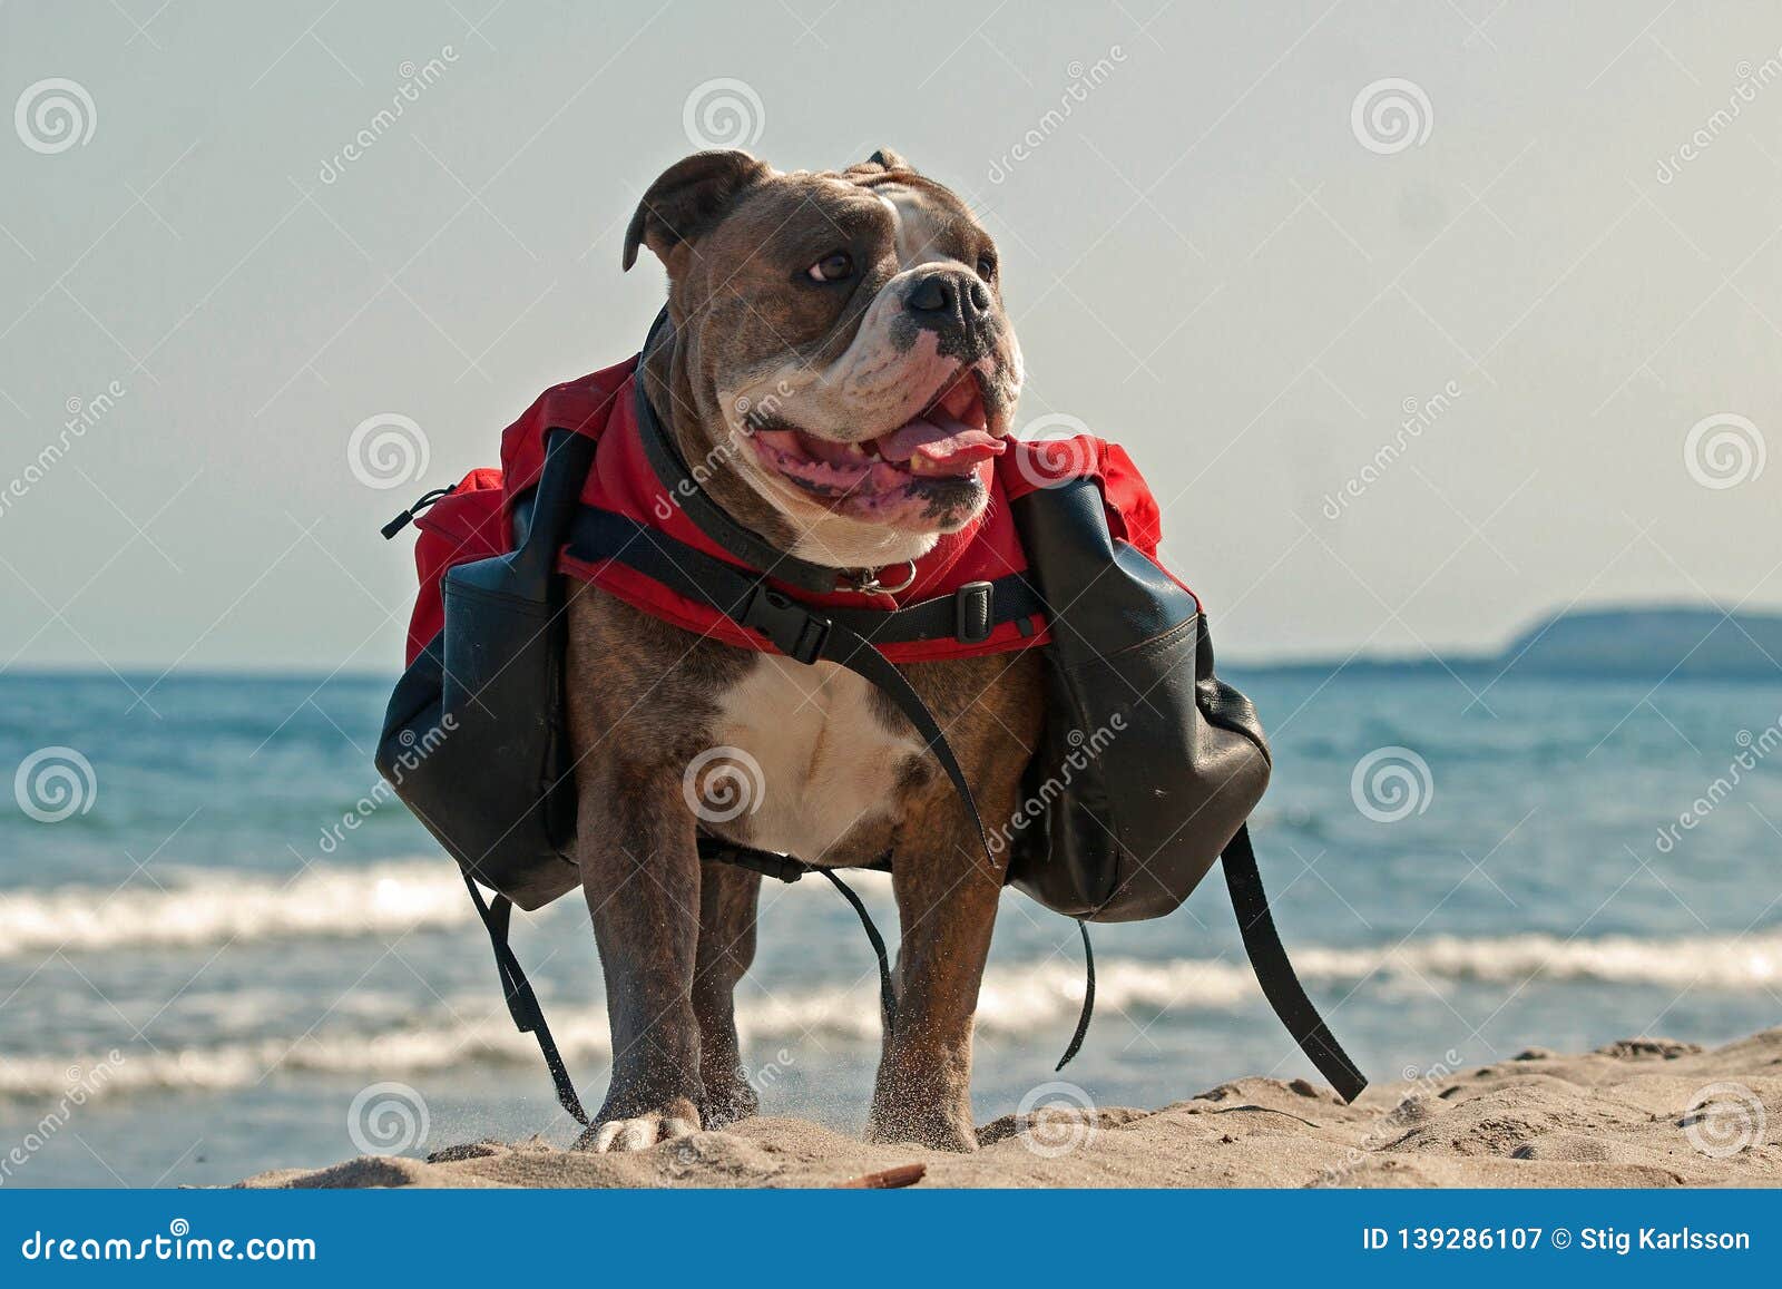
<path fill-rule="evenodd" d="M 944 833 L 952 833 L 946 829 Z M 973 845 L 977 838 L 973 838 Z M 989 957 L 1001 872 L 948 845 L 950 863 L 893 866 L 902 947 L 896 1025 L 886 1036 L 868 1137 L 977 1150 L 971 1016 Z"/>

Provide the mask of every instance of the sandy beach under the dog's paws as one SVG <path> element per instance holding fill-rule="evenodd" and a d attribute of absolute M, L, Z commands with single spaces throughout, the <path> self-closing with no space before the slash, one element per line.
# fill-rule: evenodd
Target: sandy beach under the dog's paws
<path fill-rule="evenodd" d="M 636 1155 L 476 1141 L 242 1186 L 830 1187 L 918 1173 L 925 1187 L 1777 1186 L 1782 1029 L 1713 1050 L 1657 1038 L 1581 1055 L 1531 1048 L 1381 1082 L 1354 1105 L 1304 1080 L 1240 1079 L 1157 1111 L 1005 1116 L 978 1141 L 977 1154 L 953 1155 L 759 1118 Z"/>

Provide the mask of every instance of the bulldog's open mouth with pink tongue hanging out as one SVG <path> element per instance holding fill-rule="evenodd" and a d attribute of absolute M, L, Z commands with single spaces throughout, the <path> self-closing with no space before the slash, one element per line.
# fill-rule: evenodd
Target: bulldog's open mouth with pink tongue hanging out
<path fill-rule="evenodd" d="M 764 426 L 752 439 L 775 474 L 829 501 L 969 489 L 982 485 L 980 467 L 1007 449 L 1003 426 L 991 428 L 984 396 L 982 373 L 966 369 L 921 412 L 873 439 L 841 442 L 791 426 Z"/>

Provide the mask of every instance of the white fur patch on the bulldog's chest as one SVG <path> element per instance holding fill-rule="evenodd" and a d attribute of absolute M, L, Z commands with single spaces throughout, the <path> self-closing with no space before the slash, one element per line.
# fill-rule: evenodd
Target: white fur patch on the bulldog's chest
<path fill-rule="evenodd" d="M 898 768 L 923 754 L 873 713 L 871 685 L 827 661 L 759 654 L 720 711 L 716 742 L 761 770 L 757 802 L 738 818 L 748 845 L 805 863 L 823 863 L 855 824 L 887 818 Z"/>

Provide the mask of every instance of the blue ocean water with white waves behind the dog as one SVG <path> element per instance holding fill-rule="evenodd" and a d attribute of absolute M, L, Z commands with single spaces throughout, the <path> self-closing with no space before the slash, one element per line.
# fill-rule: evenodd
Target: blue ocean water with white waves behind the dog
<path fill-rule="evenodd" d="M 1374 1077 L 1782 1023 L 1782 685 L 1231 679 L 1274 738 L 1255 836 L 1276 920 Z M 214 1184 L 367 1145 L 576 1136 L 454 866 L 399 804 L 358 804 L 387 685 L 0 676 L 0 1186 Z M 895 925 L 887 879 L 857 888 Z M 581 900 L 517 918 L 515 945 L 599 1104 Z M 1082 997 L 1075 925 L 1005 895 L 978 1121 L 1053 1080 L 1160 1105 L 1313 1075 L 1217 877 L 1169 918 L 1098 929 L 1096 954 L 1094 1029 L 1053 1073 Z M 862 1127 L 875 988 L 827 884 L 764 888 L 740 989 L 764 1111 Z"/>

